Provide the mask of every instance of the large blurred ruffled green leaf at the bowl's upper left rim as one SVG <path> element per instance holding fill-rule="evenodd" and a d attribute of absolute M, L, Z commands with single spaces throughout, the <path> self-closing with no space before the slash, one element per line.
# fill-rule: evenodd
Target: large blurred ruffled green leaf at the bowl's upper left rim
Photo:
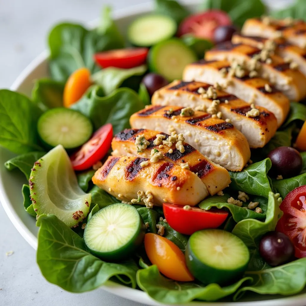
<path fill-rule="evenodd" d="M 57 24 L 48 38 L 49 69 L 54 80 L 65 82 L 76 69 L 87 67 L 98 70 L 93 60 L 96 52 L 124 47 L 124 40 L 110 18 L 110 9 L 104 8 L 99 28 L 87 30 L 80 24 Z"/>

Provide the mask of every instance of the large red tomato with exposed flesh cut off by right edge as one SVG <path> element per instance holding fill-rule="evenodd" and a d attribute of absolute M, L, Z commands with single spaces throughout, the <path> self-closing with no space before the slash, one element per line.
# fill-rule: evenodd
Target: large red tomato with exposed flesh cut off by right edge
<path fill-rule="evenodd" d="M 276 230 L 291 239 L 296 257 L 306 257 L 306 185 L 289 192 L 279 208 L 284 214 Z"/>

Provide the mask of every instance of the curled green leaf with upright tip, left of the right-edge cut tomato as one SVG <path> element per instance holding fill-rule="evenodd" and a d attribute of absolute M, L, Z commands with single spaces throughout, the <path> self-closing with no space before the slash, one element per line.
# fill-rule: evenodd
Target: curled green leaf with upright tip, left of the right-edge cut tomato
<path fill-rule="evenodd" d="M 256 219 L 245 219 L 237 223 L 232 233 L 239 237 L 249 248 L 256 248 L 260 237 L 272 230 L 282 216 L 279 209 L 281 199 L 273 192 L 269 192 L 267 216 L 264 222 Z"/>

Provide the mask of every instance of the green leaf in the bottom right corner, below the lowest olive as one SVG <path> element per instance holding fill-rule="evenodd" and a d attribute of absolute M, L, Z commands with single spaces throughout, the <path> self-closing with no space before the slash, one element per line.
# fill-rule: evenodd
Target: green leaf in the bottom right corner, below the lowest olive
<path fill-rule="evenodd" d="M 306 258 L 271 269 L 248 271 L 245 276 L 252 277 L 252 285 L 239 289 L 234 300 L 239 299 L 245 291 L 259 294 L 296 294 L 306 285 Z"/>

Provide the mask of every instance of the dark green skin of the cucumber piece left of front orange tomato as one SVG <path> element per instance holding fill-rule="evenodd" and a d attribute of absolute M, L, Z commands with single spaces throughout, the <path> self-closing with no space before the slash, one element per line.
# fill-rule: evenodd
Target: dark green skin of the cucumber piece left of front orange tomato
<path fill-rule="evenodd" d="M 92 218 L 90 218 L 88 223 L 86 224 L 85 231 L 86 231 L 86 228 L 90 226 L 91 220 Z M 138 223 L 137 231 L 135 235 L 132 237 L 132 239 L 127 244 L 125 244 L 121 248 L 115 251 L 112 251 L 112 252 L 98 252 L 96 250 L 92 250 L 91 248 L 88 248 L 88 249 L 90 250 L 92 254 L 96 255 L 97 257 L 103 260 L 119 261 L 119 260 L 127 259 L 130 257 L 130 255 L 135 253 L 135 250 L 143 243 L 145 233 L 146 233 L 146 226 L 144 225 L 143 219 L 139 215 L 139 223 Z M 87 245 L 85 235 L 84 235 L 84 241 L 85 241 L 85 244 Z"/>

